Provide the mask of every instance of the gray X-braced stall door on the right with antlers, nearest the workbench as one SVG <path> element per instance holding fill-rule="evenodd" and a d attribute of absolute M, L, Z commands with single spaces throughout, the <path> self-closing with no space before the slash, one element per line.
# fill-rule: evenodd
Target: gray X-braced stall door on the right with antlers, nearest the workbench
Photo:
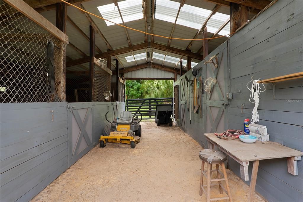
<path fill-rule="evenodd" d="M 221 49 L 215 55 L 208 55 L 212 61 L 205 64 L 206 78 L 215 78 L 215 83 L 211 84 L 210 92 L 207 92 L 207 133 L 223 132 L 228 124 L 228 100 L 226 93 L 228 91 L 228 63 L 227 49 Z"/>

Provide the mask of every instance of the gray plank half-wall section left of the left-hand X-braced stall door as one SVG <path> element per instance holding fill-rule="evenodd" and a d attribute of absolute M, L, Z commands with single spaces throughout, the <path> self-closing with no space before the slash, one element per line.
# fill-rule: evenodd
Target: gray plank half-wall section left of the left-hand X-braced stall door
<path fill-rule="evenodd" d="M 0 105 L 1 201 L 30 200 L 67 169 L 66 106 Z"/>

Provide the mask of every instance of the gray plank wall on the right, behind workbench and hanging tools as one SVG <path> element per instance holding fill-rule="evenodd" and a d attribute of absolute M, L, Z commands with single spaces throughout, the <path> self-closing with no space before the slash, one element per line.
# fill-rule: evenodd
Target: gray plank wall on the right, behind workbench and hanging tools
<path fill-rule="evenodd" d="M 302 7 L 303 1 L 277 1 L 231 36 L 229 43 L 221 44 L 196 66 L 203 75 L 204 82 L 209 77 L 205 72 L 209 71 L 210 68 L 210 66 L 205 67 L 204 62 L 211 56 L 219 56 L 218 53 L 226 49 L 228 57 L 224 58 L 227 62 L 224 62 L 223 69 L 224 72 L 228 72 L 224 77 L 227 77 L 224 79 L 227 91 L 223 95 L 226 99 L 226 93 L 231 92 L 233 98 L 228 100 L 228 106 L 224 109 L 222 116 L 225 118 L 227 112 L 227 118 L 224 121 L 221 120 L 221 123 L 219 121 L 220 130 L 217 130 L 218 132 L 227 128 L 243 129 L 244 119 L 251 118 L 254 103 L 248 101 L 250 92 L 246 87 L 251 76 L 254 76 L 254 79 L 269 79 L 303 71 Z M 187 76 L 191 74 L 189 71 Z M 185 76 L 182 76 L 175 83 L 179 92 L 182 90 L 182 82 L 184 82 L 182 79 L 184 78 Z M 221 88 L 220 81 L 219 85 Z M 266 91 L 260 94 L 258 106 L 259 124 L 267 126 L 270 141 L 300 151 L 303 151 L 302 86 L 303 79 L 276 82 L 274 97 L 272 86 L 265 84 Z M 185 126 L 182 123 L 182 129 L 185 128 L 185 132 L 204 148 L 207 148 L 207 144 L 203 133 L 211 131 L 209 119 L 213 119 L 215 122 L 215 116 L 211 117 L 207 111 L 207 102 L 210 103 L 206 99 L 207 96 L 208 93 L 205 92 L 202 95 L 204 99 L 202 117 L 192 113 L 190 124 L 189 112 L 185 112 Z M 177 120 L 179 126 L 181 126 L 181 105 L 182 101 L 180 100 Z M 227 126 L 225 126 L 226 124 Z M 252 170 L 252 163 L 250 164 L 249 174 Z M 239 164 L 231 158 L 228 159 L 228 168 L 240 177 Z M 298 170 L 298 176 L 289 174 L 286 159 L 262 160 L 258 169 L 256 191 L 268 201 L 301 201 L 303 198 L 302 160 L 298 161 Z M 249 184 L 250 182 L 245 181 L 245 183 Z"/>

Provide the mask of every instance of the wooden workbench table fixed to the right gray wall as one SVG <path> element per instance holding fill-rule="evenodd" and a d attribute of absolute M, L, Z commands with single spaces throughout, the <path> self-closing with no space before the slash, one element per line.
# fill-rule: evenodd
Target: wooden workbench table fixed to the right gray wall
<path fill-rule="evenodd" d="M 218 133 L 221 134 L 221 133 Z M 303 153 L 283 146 L 278 143 L 269 141 L 268 144 L 262 144 L 260 141 L 255 143 L 244 143 L 240 139 L 229 140 L 219 139 L 214 133 L 204 133 L 206 140 L 208 141 L 208 148 L 214 149 L 218 146 L 220 150 L 229 157 L 233 158 L 240 164 L 241 178 L 248 181 L 248 165 L 249 161 L 253 161 L 253 167 L 251 172 L 251 181 L 249 186 L 248 201 L 253 201 L 253 195 L 255 193 L 255 186 L 257 180 L 257 173 L 259 167 L 259 161 L 265 159 L 277 159 L 287 158 L 288 173 L 298 175 L 298 160 L 301 160 Z"/>

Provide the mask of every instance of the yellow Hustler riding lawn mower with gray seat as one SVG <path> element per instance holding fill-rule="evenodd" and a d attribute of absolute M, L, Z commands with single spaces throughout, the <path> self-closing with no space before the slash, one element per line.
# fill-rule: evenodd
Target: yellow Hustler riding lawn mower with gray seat
<path fill-rule="evenodd" d="M 140 112 L 139 112 L 140 113 Z M 133 118 L 131 112 L 122 112 L 120 117 L 115 118 L 112 122 L 107 119 L 108 112 L 105 114 L 105 119 L 110 123 L 108 130 L 103 130 L 103 136 L 100 136 L 100 147 L 105 147 L 106 142 L 130 144 L 131 148 L 135 148 L 136 143 L 140 141 L 141 125 L 138 121 L 138 116 Z"/>

